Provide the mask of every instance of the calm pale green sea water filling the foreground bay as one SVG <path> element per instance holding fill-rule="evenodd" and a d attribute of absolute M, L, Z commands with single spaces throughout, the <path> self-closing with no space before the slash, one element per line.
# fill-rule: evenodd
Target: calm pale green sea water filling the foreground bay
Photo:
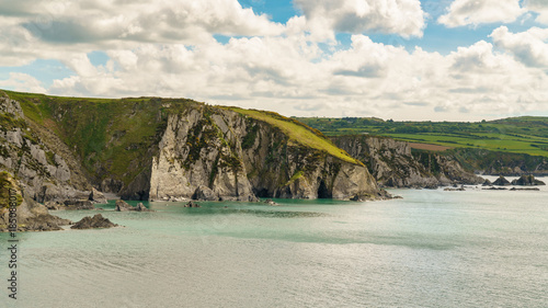
<path fill-rule="evenodd" d="M 20 233 L 18 300 L 1 233 L 0 307 L 548 307 L 546 187 L 392 192 L 104 206 L 125 228 Z"/>

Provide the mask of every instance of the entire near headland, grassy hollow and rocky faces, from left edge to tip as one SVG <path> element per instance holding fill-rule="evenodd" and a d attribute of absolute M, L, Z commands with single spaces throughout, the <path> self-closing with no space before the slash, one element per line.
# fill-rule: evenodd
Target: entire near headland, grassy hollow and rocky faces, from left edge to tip
<path fill-rule="evenodd" d="M 388 197 L 321 133 L 261 111 L 191 100 L 57 98 L 4 91 L 0 169 L 32 198 Z"/>

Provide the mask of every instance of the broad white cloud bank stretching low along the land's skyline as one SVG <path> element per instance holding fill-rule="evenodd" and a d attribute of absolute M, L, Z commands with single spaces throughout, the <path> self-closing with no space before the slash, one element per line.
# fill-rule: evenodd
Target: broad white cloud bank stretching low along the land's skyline
<path fill-rule="evenodd" d="M 195 48 L 144 44 L 107 54 L 110 65 L 57 80 L 49 92 L 185 96 L 286 115 L 467 121 L 546 110 L 548 99 L 543 70 L 483 41 L 446 56 L 410 53 L 364 35 L 353 35 L 350 47 L 333 54 L 297 36 L 231 38 Z"/>

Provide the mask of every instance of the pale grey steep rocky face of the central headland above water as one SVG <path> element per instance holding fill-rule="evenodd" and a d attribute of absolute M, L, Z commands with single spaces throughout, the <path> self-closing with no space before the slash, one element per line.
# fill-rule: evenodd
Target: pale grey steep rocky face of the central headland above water
<path fill-rule="evenodd" d="M 170 115 L 152 159 L 150 198 L 385 197 L 366 168 L 290 140 L 233 111 L 201 106 Z"/>

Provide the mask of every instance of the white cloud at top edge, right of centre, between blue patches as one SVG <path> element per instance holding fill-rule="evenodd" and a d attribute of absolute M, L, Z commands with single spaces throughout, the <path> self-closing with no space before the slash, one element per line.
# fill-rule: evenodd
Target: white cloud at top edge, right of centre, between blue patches
<path fill-rule="evenodd" d="M 334 32 L 422 36 L 425 26 L 419 0 L 295 0 L 295 4 L 319 39 L 333 39 Z"/>

